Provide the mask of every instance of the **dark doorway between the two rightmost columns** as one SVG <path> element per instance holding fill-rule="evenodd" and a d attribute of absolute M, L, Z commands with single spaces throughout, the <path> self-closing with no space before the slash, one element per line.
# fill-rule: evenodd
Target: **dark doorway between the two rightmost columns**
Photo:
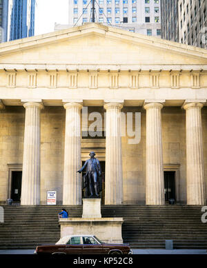
<path fill-rule="evenodd" d="M 165 200 L 175 199 L 175 172 L 164 172 Z"/>

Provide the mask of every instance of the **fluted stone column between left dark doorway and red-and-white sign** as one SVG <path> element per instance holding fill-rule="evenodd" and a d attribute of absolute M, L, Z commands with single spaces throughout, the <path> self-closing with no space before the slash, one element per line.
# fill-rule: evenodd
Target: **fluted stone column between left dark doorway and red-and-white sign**
<path fill-rule="evenodd" d="M 40 111 L 41 103 L 28 102 L 26 108 L 21 205 L 39 205 L 40 201 Z"/>

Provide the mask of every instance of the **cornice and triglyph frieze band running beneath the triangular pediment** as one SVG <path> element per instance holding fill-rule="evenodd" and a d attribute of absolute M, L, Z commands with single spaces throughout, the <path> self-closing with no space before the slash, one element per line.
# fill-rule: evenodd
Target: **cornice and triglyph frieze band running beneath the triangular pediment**
<path fill-rule="evenodd" d="M 0 64 L 0 88 L 154 90 L 207 87 L 207 65 Z"/>

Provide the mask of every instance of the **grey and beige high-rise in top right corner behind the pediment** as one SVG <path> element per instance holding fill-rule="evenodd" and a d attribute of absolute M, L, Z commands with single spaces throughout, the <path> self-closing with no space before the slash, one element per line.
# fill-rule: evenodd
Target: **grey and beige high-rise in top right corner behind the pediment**
<path fill-rule="evenodd" d="M 161 37 L 207 48 L 207 0 L 161 0 Z"/>

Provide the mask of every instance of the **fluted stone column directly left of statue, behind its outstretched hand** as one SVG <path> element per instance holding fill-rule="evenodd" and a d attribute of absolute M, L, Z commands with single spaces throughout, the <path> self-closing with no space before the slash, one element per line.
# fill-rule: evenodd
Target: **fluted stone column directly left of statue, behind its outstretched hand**
<path fill-rule="evenodd" d="M 81 103 L 66 103 L 63 205 L 81 205 Z"/>

